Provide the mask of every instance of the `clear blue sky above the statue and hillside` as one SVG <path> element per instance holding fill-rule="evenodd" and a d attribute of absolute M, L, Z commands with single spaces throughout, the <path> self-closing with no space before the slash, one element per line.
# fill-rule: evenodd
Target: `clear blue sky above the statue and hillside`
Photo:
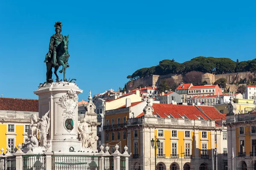
<path fill-rule="evenodd" d="M 84 90 L 123 87 L 139 68 L 198 56 L 256 58 L 256 1 L 20 1 L 0 5 L 0 94 L 37 99 L 45 54 L 63 23 L 70 68 Z M 62 77 L 61 74 L 59 74 Z"/>

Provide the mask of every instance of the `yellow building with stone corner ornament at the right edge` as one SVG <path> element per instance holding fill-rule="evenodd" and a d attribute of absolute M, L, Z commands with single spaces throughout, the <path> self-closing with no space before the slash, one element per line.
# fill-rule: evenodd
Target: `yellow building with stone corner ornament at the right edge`
<path fill-rule="evenodd" d="M 228 170 L 255 170 L 256 112 L 238 113 L 233 98 L 227 105 Z"/>

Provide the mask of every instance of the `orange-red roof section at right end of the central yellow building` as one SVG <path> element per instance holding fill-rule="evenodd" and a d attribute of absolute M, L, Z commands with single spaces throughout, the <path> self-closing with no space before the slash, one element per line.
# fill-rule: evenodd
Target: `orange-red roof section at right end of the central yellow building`
<path fill-rule="evenodd" d="M 226 120 L 226 114 L 221 114 L 213 106 L 197 106 L 212 120 Z"/>

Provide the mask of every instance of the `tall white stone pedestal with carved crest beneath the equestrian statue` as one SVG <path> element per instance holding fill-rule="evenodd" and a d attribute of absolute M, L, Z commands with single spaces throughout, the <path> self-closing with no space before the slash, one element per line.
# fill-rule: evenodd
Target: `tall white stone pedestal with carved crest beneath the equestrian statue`
<path fill-rule="evenodd" d="M 39 117 L 48 111 L 50 118 L 47 142 L 52 151 L 67 153 L 71 150 L 81 150 L 78 140 L 78 94 L 82 90 L 75 83 L 53 82 L 46 84 L 34 94 L 39 99 Z"/>

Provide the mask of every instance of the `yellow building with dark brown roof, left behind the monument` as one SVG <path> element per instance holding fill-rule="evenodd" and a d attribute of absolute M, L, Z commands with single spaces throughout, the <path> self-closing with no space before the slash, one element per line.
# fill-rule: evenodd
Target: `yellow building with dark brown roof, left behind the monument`
<path fill-rule="evenodd" d="M 38 100 L 0 98 L 0 146 L 13 152 L 25 143 L 32 114 L 38 117 Z"/>

